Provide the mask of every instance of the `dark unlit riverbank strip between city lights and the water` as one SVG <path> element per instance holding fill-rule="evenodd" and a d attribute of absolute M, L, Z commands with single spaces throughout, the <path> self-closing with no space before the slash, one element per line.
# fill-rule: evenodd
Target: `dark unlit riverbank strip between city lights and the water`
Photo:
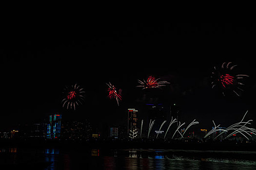
<path fill-rule="evenodd" d="M 99 148 L 99 149 L 169 149 L 201 151 L 256 152 L 256 141 L 236 140 L 1 140 L 0 147 L 16 148 Z"/>

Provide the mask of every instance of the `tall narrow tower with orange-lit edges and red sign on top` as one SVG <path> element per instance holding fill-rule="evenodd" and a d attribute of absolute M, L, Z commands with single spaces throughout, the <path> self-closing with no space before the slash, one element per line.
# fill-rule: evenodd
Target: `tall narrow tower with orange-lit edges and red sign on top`
<path fill-rule="evenodd" d="M 138 110 L 128 109 L 128 136 L 136 138 L 138 136 Z"/>

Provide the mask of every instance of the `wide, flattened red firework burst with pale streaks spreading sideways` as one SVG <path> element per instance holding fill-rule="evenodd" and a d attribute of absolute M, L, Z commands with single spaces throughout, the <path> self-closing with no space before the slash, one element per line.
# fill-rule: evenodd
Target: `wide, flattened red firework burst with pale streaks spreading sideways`
<path fill-rule="evenodd" d="M 145 88 L 161 88 L 162 86 L 165 86 L 166 84 L 170 84 L 167 81 L 158 82 L 158 80 L 159 80 L 159 78 L 156 79 L 153 76 L 149 76 L 147 81 L 145 81 L 144 79 L 143 79 L 143 81 L 138 80 L 138 83 L 140 85 L 137 85 L 137 87 L 143 87 L 142 89 L 145 89 Z"/>

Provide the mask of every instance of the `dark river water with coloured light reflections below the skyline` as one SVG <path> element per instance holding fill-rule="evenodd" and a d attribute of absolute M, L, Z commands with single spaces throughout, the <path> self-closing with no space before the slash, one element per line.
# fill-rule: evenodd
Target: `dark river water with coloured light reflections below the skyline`
<path fill-rule="evenodd" d="M 188 152 L 188 151 L 186 151 Z M 190 154 L 170 150 L 110 150 L 99 149 L 64 151 L 57 148 L 28 149 L 0 148 L 0 167 L 26 165 L 38 170 L 256 170 L 256 153 L 250 159 L 223 156 L 202 156 L 198 152 Z M 211 152 L 209 152 L 210 154 Z M 207 152 L 205 155 L 209 155 Z M 249 154 L 249 153 L 248 153 Z M 246 157 L 246 156 L 245 156 Z M 4 167 L 3 166 L 3 167 Z M 32 168 L 33 169 L 33 168 Z"/>

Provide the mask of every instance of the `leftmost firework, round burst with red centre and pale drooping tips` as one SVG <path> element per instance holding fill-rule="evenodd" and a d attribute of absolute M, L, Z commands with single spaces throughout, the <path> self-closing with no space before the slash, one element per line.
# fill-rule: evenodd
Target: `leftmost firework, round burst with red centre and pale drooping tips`
<path fill-rule="evenodd" d="M 65 86 L 63 95 L 64 99 L 61 101 L 63 103 L 62 107 L 66 107 L 67 109 L 76 110 L 76 106 L 82 104 L 84 101 L 83 88 L 79 88 L 79 85 L 71 85 L 70 87 Z"/>

